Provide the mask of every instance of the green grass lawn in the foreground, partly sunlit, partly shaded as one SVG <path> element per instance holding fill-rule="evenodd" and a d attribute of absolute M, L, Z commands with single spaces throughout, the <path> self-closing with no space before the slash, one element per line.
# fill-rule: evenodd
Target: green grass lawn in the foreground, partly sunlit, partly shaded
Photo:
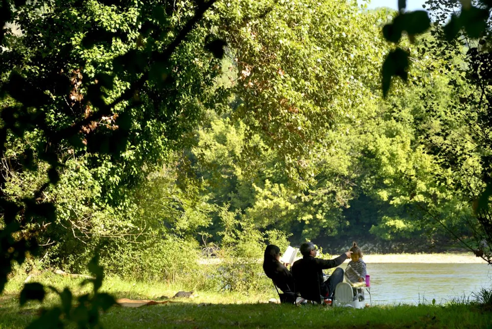
<path fill-rule="evenodd" d="M 77 294 L 82 280 L 54 274 L 34 278 L 62 289 L 68 286 Z M 34 319 L 41 307 L 29 302 L 20 308 L 18 294 L 22 278 L 14 278 L 0 296 L 0 328 L 23 328 Z M 108 278 L 102 288 L 116 296 L 159 299 L 173 296 L 178 290 L 166 284 L 127 282 Z M 102 315 L 104 328 L 492 328 L 492 313 L 477 305 L 445 306 L 373 306 L 362 310 L 320 306 L 293 306 L 266 303 L 274 297 L 195 292 L 193 298 L 174 299 L 174 303 L 140 308 L 112 307 Z M 45 307 L 58 303 L 49 293 Z"/>

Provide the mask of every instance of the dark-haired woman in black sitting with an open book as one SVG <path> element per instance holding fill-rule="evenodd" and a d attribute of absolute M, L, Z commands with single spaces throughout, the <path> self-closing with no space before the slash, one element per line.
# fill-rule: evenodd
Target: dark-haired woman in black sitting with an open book
<path fill-rule="evenodd" d="M 277 287 L 284 293 L 294 292 L 294 278 L 292 273 L 279 261 L 280 248 L 274 244 L 269 244 L 265 249 L 263 258 L 263 270 L 265 274 L 273 280 Z"/>

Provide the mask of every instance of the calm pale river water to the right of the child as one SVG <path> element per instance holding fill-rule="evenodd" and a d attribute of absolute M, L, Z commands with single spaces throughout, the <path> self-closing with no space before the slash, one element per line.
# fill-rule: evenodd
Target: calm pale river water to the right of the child
<path fill-rule="evenodd" d="M 340 265 L 343 269 L 346 266 Z M 473 293 L 492 284 L 492 267 L 488 264 L 368 263 L 367 267 L 372 305 L 473 299 Z"/>

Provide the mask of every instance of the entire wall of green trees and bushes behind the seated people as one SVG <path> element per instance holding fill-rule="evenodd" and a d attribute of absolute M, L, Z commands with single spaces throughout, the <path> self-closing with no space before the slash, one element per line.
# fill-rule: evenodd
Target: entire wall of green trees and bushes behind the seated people
<path fill-rule="evenodd" d="M 487 239 L 473 200 L 489 189 L 488 34 L 392 40 L 397 12 L 345 0 L 18 2 L 1 37 L 0 229 L 39 245 L 31 263 L 83 272 L 97 251 L 108 273 L 174 280 L 269 242 Z M 384 97 L 387 40 L 411 68 Z"/>

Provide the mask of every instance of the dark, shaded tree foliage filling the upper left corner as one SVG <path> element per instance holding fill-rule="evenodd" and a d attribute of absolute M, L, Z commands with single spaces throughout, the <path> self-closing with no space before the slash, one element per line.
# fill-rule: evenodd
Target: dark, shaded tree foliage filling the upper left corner
<path fill-rule="evenodd" d="M 2 2 L 1 25 L 22 35 L 0 39 L 0 290 L 47 227 L 125 233 L 127 188 L 200 117 L 218 66 L 196 23 L 214 2 Z"/>

